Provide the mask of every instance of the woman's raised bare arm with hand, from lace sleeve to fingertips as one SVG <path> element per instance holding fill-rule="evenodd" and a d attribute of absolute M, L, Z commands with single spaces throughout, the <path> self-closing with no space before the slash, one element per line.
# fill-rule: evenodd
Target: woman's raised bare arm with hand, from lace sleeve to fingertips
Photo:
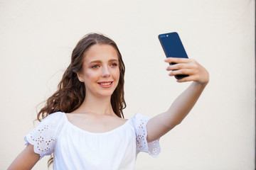
<path fill-rule="evenodd" d="M 169 76 L 174 77 L 178 74 L 188 74 L 188 77 L 178 79 L 178 82 L 193 81 L 188 89 L 176 98 L 168 111 L 151 118 L 146 125 L 148 142 L 152 142 L 169 132 L 188 115 L 193 108 L 203 89 L 209 81 L 207 70 L 198 64 L 196 60 L 186 58 L 169 57 L 165 62 L 176 63 L 167 67 Z"/>

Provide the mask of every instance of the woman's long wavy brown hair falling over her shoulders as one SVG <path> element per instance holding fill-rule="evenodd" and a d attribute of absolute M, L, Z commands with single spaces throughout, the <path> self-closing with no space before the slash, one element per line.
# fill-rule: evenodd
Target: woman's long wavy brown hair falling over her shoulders
<path fill-rule="evenodd" d="M 87 52 L 92 45 L 101 44 L 111 45 L 115 50 L 117 50 L 120 72 L 119 83 L 111 96 L 111 105 L 114 113 L 119 118 L 124 118 L 122 110 L 126 107 L 126 103 L 124 101 L 125 67 L 122 55 L 119 52 L 117 44 L 113 40 L 102 34 L 90 33 L 82 37 L 75 46 L 71 55 L 71 63 L 65 70 L 63 78 L 58 84 L 58 90 L 47 99 L 45 106 L 38 112 L 37 120 L 41 121 L 51 113 L 58 111 L 70 113 L 80 107 L 86 94 L 85 84 L 79 81 L 77 73 L 82 70 L 82 62 L 85 57 L 85 52 Z M 53 163 L 53 155 L 51 155 L 48 161 L 48 166 L 51 163 Z"/>

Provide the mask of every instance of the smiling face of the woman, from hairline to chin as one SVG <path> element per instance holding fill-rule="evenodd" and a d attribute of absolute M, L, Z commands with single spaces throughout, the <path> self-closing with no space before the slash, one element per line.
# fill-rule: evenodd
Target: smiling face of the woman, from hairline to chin
<path fill-rule="evenodd" d="M 85 52 L 78 78 L 85 83 L 86 96 L 111 96 L 119 82 L 117 50 L 111 45 L 92 45 Z"/>

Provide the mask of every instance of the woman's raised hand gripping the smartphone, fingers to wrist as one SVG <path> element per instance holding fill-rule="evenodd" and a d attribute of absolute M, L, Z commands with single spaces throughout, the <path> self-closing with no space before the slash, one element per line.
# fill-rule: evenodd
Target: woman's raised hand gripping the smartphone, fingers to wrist
<path fill-rule="evenodd" d="M 184 77 L 183 79 L 177 79 L 178 82 L 196 81 L 199 84 L 208 84 L 209 74 L 201 64 L 196 62 L 196 60 L 168 57 L 164 61 L 168 63 L 176 63 L 169 65 L 169 67 L 166 68 L 166 70 L 171 71 L 169 76 L 176 76 L 178 74 L 188 75 L 188 77 Z"/>

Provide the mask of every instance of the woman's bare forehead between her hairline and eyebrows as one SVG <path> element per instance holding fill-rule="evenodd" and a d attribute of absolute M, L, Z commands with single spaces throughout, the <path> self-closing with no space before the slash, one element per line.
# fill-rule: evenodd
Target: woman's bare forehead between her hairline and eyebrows
<path fill-rule="evenodd" d="M 92 60 L 118 60 L 117 50 L 112 45 L 92 45 L 87 52 L 85 52 L 85 62 Z"/>

